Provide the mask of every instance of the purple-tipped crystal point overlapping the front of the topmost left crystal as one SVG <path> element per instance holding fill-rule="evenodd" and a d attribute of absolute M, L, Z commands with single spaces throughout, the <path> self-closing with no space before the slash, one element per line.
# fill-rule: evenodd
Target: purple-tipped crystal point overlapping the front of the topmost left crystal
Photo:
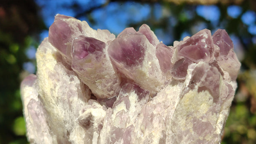
<path fill-rule="evenodd" d="M 76 37 L 72 44 L 72 69 L 97 98 L 112 98 L 120 90 L 119 76 L 106 58 L 106 45 L 93 37 Z"/>

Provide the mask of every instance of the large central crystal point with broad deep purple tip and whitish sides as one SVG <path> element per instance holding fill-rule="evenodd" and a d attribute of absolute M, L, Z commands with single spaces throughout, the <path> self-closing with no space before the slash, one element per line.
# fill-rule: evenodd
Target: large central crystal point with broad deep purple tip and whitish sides
<path fill-rule="evenodd" d="M 145 35 L 129 33 L 130 30 L 125 29 L 122 37 L 111 42 L 108 54 L 120 73 L 153 94 L 164 82 L 155 48 Z"/>

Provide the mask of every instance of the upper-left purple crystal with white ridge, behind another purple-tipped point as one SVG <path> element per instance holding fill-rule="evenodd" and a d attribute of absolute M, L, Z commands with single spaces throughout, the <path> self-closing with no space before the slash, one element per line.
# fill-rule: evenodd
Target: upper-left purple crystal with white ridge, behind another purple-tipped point
<path fill-rule="evenodd" d="M 93 30 L 87 22 L 81 22 L 73 17 L 61 14 L 55 16 L 54 23 L 49 28 L 49 42 L 67 58 L 67 63 L 71 63 L 72 61 L 72 41 L 79 35 L 97 38 L 103 42 L 115 38 L 108 30 Z"/>

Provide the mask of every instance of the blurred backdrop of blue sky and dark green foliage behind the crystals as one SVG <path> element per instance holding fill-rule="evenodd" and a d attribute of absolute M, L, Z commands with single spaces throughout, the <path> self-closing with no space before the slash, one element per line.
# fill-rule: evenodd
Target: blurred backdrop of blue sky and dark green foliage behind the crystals
<path fill-rule="evenodd" d="M 1 0 L 0 144 L 28 143 L 20 82 L 36 72 L 36 49 L 58 13 L 115 35 L 146 23 L 168 46 L 201 29 L 226 29 L 242 65 L 222 144 L 256 143 L 255 0 Z"/>

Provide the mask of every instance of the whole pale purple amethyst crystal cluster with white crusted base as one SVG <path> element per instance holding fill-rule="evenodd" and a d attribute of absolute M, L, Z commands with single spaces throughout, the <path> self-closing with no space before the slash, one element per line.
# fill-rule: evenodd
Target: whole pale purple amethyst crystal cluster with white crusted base
<path fill-rule="evenodd" d="M 240 63 L 224 29 L 174 46 L 57 14 L 21 84 L 31 143 L 219 143 Z"/>

